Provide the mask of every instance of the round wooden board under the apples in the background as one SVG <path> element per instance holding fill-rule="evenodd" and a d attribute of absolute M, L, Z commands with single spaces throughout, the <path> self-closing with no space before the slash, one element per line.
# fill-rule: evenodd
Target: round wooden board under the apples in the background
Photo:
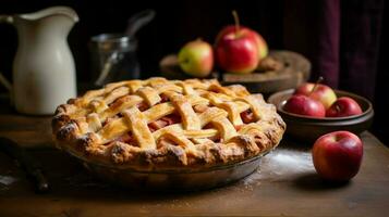
<path fill-rule="evenodd" d="M 218 78 L 222 85 L 240 84 L 251 92 L 260 92 L 265 95 L 295 88 L 309 78 L 311 63 L 303 55 L 292 51 L 273 50 L 268 56 L 279 63 L 279 69 L 255 71 L 246 75 L 215 72 L 210 78 Z M 174 54 L 161 60 L 160 69 L 162 76 L 169 79 L 192 78 L 181 71 Z"/>

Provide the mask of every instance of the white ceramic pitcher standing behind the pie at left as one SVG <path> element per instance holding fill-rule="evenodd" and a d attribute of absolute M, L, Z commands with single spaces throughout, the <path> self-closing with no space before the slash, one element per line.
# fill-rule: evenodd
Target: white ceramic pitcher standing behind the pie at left
<path fill-rule="evenodd" d="M 0 74 L 17 112 L 52 114 L 59 104 L 76 97 L 75 66 L 66 38 L 77 21 L 68 7 L 0 15 L 0 23 L 13 24 L 19 36 L 13 85 Z"/>

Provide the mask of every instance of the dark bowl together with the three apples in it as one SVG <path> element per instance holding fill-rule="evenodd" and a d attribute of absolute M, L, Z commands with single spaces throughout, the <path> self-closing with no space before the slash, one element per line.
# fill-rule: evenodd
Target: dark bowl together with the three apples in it
<path fill-rule="evenodd" d="M 374 116 L 367 99 L 321 84 L 276 92 L 268 102 L 287 123 L 287 135 L 306 142 L 338 130 L 358 135 L 370 127 Z"/>

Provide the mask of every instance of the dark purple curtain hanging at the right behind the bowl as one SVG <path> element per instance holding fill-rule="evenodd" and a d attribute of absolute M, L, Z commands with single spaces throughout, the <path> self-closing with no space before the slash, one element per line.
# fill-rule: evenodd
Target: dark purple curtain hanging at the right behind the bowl
<path fill-rule="evenodd" d="M 331 87 L 373 100 L 384 0 L 321 3 L 318 73 Z"/>

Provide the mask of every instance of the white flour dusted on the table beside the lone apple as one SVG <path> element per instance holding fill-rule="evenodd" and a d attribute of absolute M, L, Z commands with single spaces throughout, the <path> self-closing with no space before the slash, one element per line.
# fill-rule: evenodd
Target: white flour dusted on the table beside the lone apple
<path fill-rule="evenodd" d="M 262 180 L 291 180 L 301 174 L 314 170 L 309 152 L 279 149 L 264 156 L 259 168 L 243 182 L 258 184 Z"/>

